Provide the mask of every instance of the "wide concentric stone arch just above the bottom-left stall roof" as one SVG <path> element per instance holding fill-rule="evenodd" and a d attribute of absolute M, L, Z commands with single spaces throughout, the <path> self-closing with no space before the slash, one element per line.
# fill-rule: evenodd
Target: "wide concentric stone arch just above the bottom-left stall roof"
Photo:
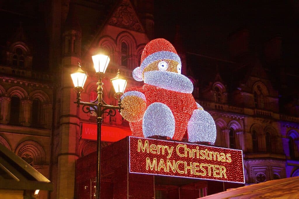
<path fill-rule="evenodd" d="M 15 153 L 22 159 L 32 158 L 33 165 L 43 164 L 45 161 L 45 152 L 35 141 L 25 141 L 17 146 Z"/>

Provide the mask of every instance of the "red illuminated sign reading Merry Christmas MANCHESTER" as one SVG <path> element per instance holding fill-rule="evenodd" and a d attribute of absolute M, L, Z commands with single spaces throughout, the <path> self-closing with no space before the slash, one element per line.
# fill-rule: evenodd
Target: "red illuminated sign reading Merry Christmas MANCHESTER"
<path fill-rule="evenodd" d="M 245 183 L 242 150 L 131 136 L 129 171 Z"/>

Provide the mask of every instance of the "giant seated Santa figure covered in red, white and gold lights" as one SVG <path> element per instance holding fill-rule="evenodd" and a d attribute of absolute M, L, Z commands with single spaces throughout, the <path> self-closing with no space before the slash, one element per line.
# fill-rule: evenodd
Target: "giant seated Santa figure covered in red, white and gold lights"
<path fill-rule="evenodd" d="M 133 77 L 144 85 L 124 92 L 121 110 L 133 136 L 182 140 L 187 130 L 190 142 L 215 142 L 215 122 L 194 100 L 193 84 L 181 74 L 181 59 L 169 41 L 150 41 Z"/>

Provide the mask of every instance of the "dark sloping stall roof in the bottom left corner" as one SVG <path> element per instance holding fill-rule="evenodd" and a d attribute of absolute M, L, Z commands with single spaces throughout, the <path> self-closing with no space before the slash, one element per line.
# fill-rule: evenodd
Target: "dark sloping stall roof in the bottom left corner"
<path fill-rule="evenodd" d="M 52 191 L 53 183 L 0 144 L 0 189 Z"/>

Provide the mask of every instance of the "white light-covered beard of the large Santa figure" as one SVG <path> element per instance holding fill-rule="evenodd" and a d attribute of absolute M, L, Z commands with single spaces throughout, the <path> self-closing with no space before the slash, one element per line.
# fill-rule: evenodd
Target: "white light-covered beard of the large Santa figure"
<path fill-rule="evenodd" d="M 144 83 L 182 93 L 193 92 L 190 79 L 176 72 L 162 70 L 144 72 Z"/>

